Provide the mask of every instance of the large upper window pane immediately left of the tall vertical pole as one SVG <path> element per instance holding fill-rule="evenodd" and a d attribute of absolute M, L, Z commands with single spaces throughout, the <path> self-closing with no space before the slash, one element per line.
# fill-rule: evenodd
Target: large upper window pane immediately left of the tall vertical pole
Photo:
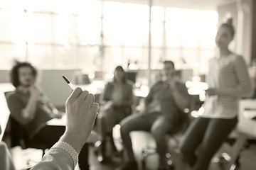
<path fill-rule="evenodd" d="M 141 46 L 147 43 L 148 6 L 104 2 L 103 9 L 103 33 L 107 45 Z"/>

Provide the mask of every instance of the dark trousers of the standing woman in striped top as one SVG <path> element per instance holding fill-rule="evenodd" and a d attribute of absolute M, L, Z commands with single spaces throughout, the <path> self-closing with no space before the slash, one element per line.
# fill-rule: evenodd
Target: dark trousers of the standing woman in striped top
<path fill-rule="evenodd" d="M 238 118 L 196 118 L 181 142 L 181 153 L 193 170 L 206 170 L 215 152 L 238 123 Z M 197 150 L 197 154 L 195 153 Z"/>

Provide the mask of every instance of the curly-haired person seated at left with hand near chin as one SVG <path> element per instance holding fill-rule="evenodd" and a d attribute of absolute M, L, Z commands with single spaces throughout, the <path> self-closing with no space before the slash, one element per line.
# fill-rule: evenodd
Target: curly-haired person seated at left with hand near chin
<path fill-rule="evenodd" d="M 47 126 L 46 122 L 53 118 L 61 118 L 60 113 L 49 98 L 35 85 L 36 69 L 28 62 L 17 62 L 11 69 L 11 83 L 16 87 L 7 103 L 14 118 L 23 126 L 26 135 L 33 142 L 41 142 L 52 147 L 65 132 L 65 126 Z M 80 169 L 89 169 L 87 145 L 79 155 Z"/>

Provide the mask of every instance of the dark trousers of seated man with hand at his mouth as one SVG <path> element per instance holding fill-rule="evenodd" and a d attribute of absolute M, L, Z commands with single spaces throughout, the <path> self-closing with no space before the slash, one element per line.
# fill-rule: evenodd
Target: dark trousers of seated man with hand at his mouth
<path fill-rule="evenodd" d="M 144 130 L 151 132 L 156 140 L 157 152 L 159 153 L 160 165 L 166 164 L 165 154 L 167 152 L 167 144 L 165 135 L 172 128 L 174 124 L 169 121 L 161 113 L 150 113 L 146 115 L 130 115 L 124 118 L 121 125 L 121 137 L 124 147 L 127 151 L 129 161 L 134 161 L 134 153 L 132 151 L 132 141 L 129 132 L 135 130 Z"/>

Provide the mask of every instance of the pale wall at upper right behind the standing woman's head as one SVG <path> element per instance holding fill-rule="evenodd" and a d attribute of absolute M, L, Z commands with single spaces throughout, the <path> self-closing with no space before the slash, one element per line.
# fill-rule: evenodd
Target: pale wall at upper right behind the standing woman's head
<path fill-rule="evenodd" d="M 241 6 L 238 2 L 218 6 L 217 11 L 219 15 L 219 23 L 221 23 L 228 14 L 233 18 L 236 36 L 231 50 L 234 50 L 245 57 L 245 61 L 249 65 L 252 58 L 256 57 L 256 2 L 254 0 L 240 0 L 240 2 L 243 6 L 243 23 L 239 20 L 238 12 L 240 11 Z M 238 37 L 241 33 L 239 31 L 242 31 L 241 37 Z M 242 46 L 241 50 L 240 46 Z"/>

